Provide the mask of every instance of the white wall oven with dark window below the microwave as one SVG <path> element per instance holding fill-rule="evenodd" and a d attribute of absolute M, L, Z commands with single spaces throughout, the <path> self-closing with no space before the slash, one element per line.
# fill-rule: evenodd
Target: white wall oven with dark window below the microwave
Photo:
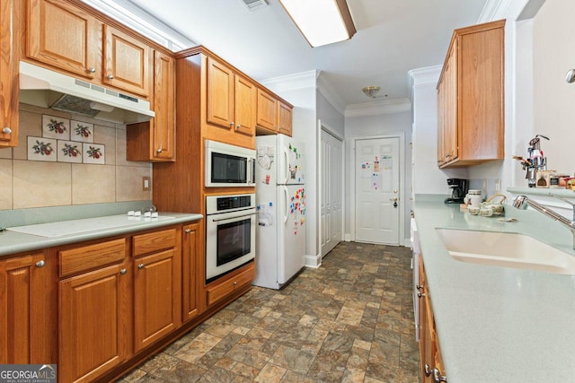
<path fill-rule="evenodd" d="M 206 283 L 255 257 L 255 194 L 206 197 Z"/>

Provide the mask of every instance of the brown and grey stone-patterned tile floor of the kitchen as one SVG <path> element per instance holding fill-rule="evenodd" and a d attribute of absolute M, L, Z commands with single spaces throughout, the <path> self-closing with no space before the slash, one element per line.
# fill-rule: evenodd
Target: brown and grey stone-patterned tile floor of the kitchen
<path fill-rule="evenodd" d="M 253 287 L 119 382 L 418 382 L 409 248 L 342 242 Z"/>

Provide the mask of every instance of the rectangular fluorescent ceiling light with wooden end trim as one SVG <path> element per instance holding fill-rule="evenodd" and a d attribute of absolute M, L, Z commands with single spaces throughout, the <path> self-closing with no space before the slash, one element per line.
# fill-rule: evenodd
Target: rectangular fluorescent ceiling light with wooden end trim
<path fill-rule="evenodd" d="M 312 47 L 350 39 L 356 32 L 343 0 L 279 0 Z"/>

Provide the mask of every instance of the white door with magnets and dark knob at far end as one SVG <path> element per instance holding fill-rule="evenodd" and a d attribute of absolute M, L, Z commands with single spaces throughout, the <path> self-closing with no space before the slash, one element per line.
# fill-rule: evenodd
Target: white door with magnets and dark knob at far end
<path fill-rule="evenodd" d="M 359 139 L 355 150 L 356 240 L 399 245 L 399 137 Z"/>

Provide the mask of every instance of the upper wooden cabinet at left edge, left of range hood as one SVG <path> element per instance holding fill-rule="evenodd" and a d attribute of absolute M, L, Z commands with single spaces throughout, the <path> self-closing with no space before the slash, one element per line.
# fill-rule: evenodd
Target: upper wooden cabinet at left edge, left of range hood
<path fill-rule="evenodd" d="M 18 62 L 14 58 L 14 1 L 0 1 L 0 148 L 18 146 Z M 15 62 L 14 62 L 15 61 Z"/>

